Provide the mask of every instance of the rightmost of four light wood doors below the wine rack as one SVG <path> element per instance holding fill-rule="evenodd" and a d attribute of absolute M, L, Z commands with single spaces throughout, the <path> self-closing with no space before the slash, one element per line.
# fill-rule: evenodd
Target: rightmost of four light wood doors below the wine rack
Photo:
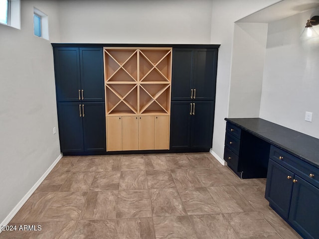
<path fill-rule="evenodd" d="M 155 149 L 169 149 L 169 116 L 155 117 Z"/>

